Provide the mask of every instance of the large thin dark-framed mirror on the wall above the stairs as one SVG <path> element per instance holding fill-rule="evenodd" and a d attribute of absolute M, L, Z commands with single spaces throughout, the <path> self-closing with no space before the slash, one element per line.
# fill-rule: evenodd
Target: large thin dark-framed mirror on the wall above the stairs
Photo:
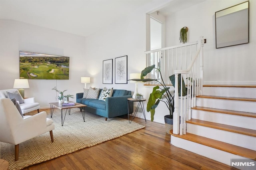
<path fill-rule="evenodd" d="M 249 1 L 215 12 L 216 48 L 249 43 Z"/>

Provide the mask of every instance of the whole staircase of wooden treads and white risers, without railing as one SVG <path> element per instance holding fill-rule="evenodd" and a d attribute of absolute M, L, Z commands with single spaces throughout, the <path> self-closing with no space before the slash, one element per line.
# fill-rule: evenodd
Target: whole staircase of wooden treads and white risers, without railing
<path fill-rule="evenodd" d="M 256 85 L 203 85 L 186 134 L 171 144 L 230 165 L 232 158 L 256 161 Z"/>

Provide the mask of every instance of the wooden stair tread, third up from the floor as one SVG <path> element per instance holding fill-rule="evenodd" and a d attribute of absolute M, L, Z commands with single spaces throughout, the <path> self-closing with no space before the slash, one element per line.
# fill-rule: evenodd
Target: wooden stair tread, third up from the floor
<path fill-rule="evenodd" d="M 191 109 L 256 118 L 256 113 L 251 113 L 251 112 L 232 111 L 232 110 L 226 110 L 226 109 L 216 109 L 216 108 L 201 107 L 201 106 L 192 107 Z"/>

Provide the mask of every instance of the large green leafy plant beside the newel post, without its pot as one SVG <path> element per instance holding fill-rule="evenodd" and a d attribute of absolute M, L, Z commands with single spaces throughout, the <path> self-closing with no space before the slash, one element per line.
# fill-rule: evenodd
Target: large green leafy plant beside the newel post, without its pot
<path fill-rule="evenodd" d="M 144 79 L 144 77 L 151 73 L 153 69 L 157 69 L 160 73 L 160 77 L 162 81 L 158 81 L 158 79 Z M 172 82 L 173 87 L 175 87 L 175 77 L 174 74 L 169 77 L 170 81 Z M 181 82 L 182 76 L 181 74 L 178 74 L 178 87 L 179 87 L 179 96 L 181 96 Z M 148 104 L 147 104 L 147 111 L 151 114 L 151 121 L 154 121 L 154 115 L 155 115 L 155 109 L 160 103 L 160 101 L 164 102 L 167 106 L 170 114 L 170 118 L 173 119 L 173 112 L 174 112 L 174 95 L 170 92 L 170 87 L 167 87 L 164 83 L 164 80 L 162 78 L 162 73 L 160 69 L 156 68 L 155 65 L 151 65 L 146 67 L 144 70 L 141 71 L 140 79 L 130 79 L 132 81 L 142 81 L 142 82 L 149 82 L 149 81 L 157 81 L 161 86 L 157 85 L 153 88 L 152 93 L 150 93 L 150 96 L 148 98 Z M 128 80 L 128 81 L 130 81 Z M 182 96 L 187 95 L 185 83 L 182 79 Z M 163 100 L 166 98 L 166 100 Z"/>

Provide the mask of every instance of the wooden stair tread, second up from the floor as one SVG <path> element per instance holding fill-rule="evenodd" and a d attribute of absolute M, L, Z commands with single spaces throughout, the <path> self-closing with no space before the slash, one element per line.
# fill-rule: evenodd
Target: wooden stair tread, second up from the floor
<path fill-rule="evenodd" d="M 191 119 L 189 121 L 186 121 L 186 123 L 191 123 L 194 125 L 216 128 L 216 129 L 220 129 L 220 130 L 225 130 L 225 131 L 229 131 L 229 132 L 234 132 L 234 133 L 239 133 L 239 134 L 256 137 L 256 130 L 252 130 L 252 129 L 248 129 L 248 128 L 235 127 L 235 126 L 224 125 L 224 124 L 220 124 L 220 123 L 202 121 L 202 120 L 198 120 L 198 119 Z"/>

